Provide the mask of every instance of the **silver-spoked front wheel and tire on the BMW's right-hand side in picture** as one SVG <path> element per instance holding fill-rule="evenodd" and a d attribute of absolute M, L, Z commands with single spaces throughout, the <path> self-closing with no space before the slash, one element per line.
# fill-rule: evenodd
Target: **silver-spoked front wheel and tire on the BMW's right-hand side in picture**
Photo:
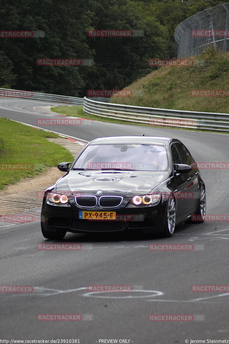
<path fill-rule="evenodd" d="M 164 216 L 164 228 L 163 237 L 171 237 L 173 235 L 176 225 L 176 205 L 173 197 L 170 197 L 167 203 L 165 216 Z"/>

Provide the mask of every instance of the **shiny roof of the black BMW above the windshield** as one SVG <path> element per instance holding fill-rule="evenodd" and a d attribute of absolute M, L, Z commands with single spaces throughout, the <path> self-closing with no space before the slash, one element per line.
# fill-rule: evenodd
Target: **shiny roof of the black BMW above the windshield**
<path fill-rule="evenodd" d="M 160 146 L 165 146 L 169 144 L 170 141 L 175 140 L 169 137 L 160 136 L 111 136 L 111 137 L 99 137 L 91 141 L 89 144 L 157 144 Z M 179 141 L 179 140 L 177 140 Z"/>

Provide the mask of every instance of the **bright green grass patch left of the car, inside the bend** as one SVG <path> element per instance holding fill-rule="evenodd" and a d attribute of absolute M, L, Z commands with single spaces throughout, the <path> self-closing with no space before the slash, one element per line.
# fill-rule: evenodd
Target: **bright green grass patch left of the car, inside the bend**
<path fill-rule="evenodd" d="M 62 161 L 73 161 L 66 148 L 46 138 L 58 135 L 0 118 L 0 190 L 22 178 L 33 178 Z M 24 167 L 31 169 L 15 169 L 15 164 L 20 164 L 20 168 L 21 164 L 28 164 Z"/>

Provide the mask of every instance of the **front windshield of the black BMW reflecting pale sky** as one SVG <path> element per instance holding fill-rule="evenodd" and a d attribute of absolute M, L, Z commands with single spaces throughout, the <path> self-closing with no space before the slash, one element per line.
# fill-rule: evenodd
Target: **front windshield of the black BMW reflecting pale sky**
<path fill-rule="evenodd" d="M 150 144 L 92 144 L 79 156 L 73 169 L 168 171 L 164 146 Z"/>

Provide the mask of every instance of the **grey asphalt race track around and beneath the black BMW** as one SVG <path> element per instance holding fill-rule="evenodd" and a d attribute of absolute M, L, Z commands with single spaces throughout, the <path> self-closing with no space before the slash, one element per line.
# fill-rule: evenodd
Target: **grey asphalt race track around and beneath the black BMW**
<path fill-rule="evenodd" d="M 1 98 L 0 116 L 36 126 L 36 119 L 55 118 L 55 113 L 48 115 L 39 108 L 49 104 L 53 105 Z M 87 141 L 143 133 L 176 137 L 197 162 L 229 161 L 228 135 L 99 121 L 44 128 Z M 201 175 L 207 214 L 228 214 L 228 169 L 201 170 Z M 40 287 L 33 293 L 0 293 L 4 339 L 77 339 L 81 344 L 111 339 L 139 344 L 229 340 L 229 291 L 191 291 L 192 285 L 229 285 L 227 221 L 181 224 L 166 239 L 69 233 L 61 241 L 49 241 L 43 238 L 39 221 L 3 228 L 0 236 L 0 285 Z M 82 244 L 82 249 L 38 250 L 42 243 Z M 150 251 L 149 244 L 193 244 L 196 249 Z M 136 291 L 89 292 L 91 285 L 128 285 Z M 87 314 L 93 319 L 38 321 L 37 314 Z M 149 321 L 150 314 L 202 315 L 196 318 L 202 320 Z"/>

